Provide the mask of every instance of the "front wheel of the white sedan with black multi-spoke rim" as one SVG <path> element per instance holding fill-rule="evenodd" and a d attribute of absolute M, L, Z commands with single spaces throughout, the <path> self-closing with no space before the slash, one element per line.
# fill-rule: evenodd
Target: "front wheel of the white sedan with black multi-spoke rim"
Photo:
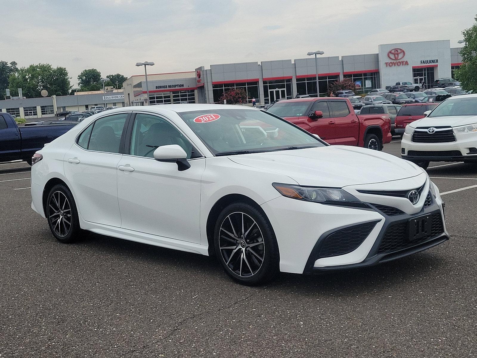
<path fill-rule="evenodd" d="M 270 221 L 248 203 L 233 203 L 222 210 L 214 248 L 225 272 L 240 284 L 263 284 L 279 272 L 278 244 Z"/>

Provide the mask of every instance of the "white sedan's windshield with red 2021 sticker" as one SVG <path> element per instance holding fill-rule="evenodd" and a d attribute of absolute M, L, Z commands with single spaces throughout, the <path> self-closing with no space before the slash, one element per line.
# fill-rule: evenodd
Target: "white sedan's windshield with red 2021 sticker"
<path fill-rule="evenodd" d="M 287 121 L 256 109 L 212 109 L 179 115 L 216 156 L 325 146 Z"/>

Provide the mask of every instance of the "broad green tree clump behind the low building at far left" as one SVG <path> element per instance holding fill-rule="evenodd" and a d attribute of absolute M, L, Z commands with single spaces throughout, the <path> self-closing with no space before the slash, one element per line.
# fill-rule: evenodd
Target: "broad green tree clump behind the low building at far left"
<path fill-rule="evenodd" d="M 64 67 L 54 68 L 49 63 L 31 64 L 21 67 L 10 74 L 9 87 L 11 95 L 18 95 L 18 88 L 27 98 L 41 96 L 45 89 L 49 95 L 68 95 L 71 89 L 70 77 Z"/>

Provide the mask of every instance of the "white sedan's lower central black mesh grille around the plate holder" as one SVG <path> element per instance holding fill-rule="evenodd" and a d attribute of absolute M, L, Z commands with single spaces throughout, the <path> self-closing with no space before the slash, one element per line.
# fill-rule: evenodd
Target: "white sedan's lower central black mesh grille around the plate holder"
<path fill-rule="evenodd" d="M 432 237 L 440 235 L 443 232 L 444 225 L 442 223 L 440 212 L 432 214 L 431 233 L 428 236 L 422 237 L 418 240 L 408 240 L 407 221 L 392 224 L 384 233 L 383 240 L 381 240 L 381 244 L 378 248 L 378 253 L 392 253 L 407 247 L 415 246 L 429 240 Z"/>

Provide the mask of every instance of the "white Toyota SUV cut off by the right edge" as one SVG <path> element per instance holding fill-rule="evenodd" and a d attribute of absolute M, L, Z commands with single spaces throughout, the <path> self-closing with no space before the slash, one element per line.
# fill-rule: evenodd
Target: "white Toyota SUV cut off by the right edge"
<path fill-rule="evenodd" d="M 406 126 L 401 156 L 427 168 L 431 161 L 477 162 L 477 94 L 450 97 Z"/>

